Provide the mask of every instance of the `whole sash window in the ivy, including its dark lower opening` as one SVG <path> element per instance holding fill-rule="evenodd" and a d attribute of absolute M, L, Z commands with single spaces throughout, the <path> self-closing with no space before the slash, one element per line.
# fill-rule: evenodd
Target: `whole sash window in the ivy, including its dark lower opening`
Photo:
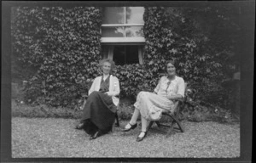
<path fill-rule="evenodd" d="M 103 58 L 116 65 L 143 64 L 143 7 L 106 7 L 102 20 Z"/>

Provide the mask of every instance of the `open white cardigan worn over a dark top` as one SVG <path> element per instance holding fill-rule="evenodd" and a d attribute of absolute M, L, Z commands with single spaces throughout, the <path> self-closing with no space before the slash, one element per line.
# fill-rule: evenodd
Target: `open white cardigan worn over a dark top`
<path fill-rule="evenodd" d="M 97 76 L 92 82 L 88 95 L 94 91 L 99 91 L 101 87 L 102 76 Z M 119 98 L 116 97 L 120 93 L 119 79 L 116 76 L 110 75 L 109 77 L 109 95 L 112 97 L 113 104 L 116 106 L 119 104 Z"/>

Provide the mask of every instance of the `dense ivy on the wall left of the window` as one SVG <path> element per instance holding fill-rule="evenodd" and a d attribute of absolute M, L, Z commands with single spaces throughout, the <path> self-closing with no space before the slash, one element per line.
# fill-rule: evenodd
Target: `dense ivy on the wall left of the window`
<path fill-rule="evenodd" d="M 79 73 L 86 79 L 99 74 L 102 8 L 21 7 L 14 13 L 13 56 L 22 69 L 35 71 L 25 79 L 26 102 L 44 97 L 53 106 L 74 105 L 84 91 L 75 82 Z"/>

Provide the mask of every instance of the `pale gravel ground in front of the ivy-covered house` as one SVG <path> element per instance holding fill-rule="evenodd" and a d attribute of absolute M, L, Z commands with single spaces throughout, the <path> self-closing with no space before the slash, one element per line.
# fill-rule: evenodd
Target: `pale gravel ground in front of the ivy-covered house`
<path fill-rule="evenodd" d="M 95 140 L 74 129 L 75 119 L 12 118 L 12 157 L 170 157 L 235 158 L 240 156 L 240 125 L 183 121 L 185 132 L 165 138 L 157 126 L 136 142 L 140 126 L 131 132 L 120 127 Z"/>

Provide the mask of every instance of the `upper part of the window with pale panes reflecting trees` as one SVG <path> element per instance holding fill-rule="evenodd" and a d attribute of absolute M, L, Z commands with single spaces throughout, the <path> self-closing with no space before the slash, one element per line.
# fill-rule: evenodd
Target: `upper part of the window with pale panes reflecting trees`
<path fill-rule="evenodd" d="M 106 7 L 103 13 L 102 42 L 145 42 L 143 7 Z"/>

